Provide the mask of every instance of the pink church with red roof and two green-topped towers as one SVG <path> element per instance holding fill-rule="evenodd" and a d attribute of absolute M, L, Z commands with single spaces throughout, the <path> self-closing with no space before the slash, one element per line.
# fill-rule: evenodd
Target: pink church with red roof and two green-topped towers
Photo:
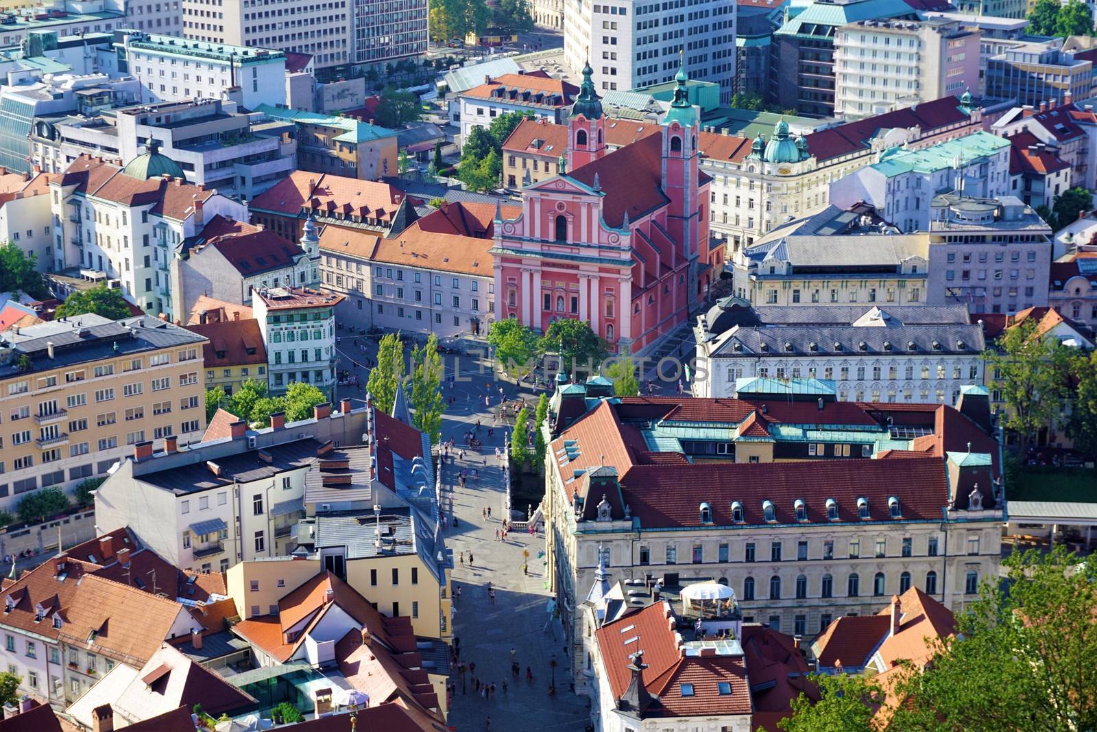
<path fill-rule="evenodd" d="M 522 213 L 496 223 L 496 309 L 542 333 L 586 320 L 615 352 L 641 353 L 701 306 L 724 254 L 710 247 L 710 180 L 683 83 L 660 134 L 607 154 L 604 125 L 588 76 L 562 172 L 527 187 Z"/>

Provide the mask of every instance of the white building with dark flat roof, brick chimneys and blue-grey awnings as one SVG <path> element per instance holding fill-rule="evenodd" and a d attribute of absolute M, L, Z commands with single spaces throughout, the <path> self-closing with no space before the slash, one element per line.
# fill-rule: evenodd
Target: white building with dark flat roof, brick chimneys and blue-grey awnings
<path fill-rule="evenodd" d="M 289 427 L 273 415 L 261 430 L 219 412 L 202 442 L 155 453 L 151 443 L 136 446 L 95 494 L 97 529 L 129 527 L 184 570 L 285 555 L 296 543 L 290 529 L 304 516 L 309 465 L 331 441 L 358 444 L 364 432 L 365 409 L 351 413 L 349 399 L 335 415 L 320 405 Z"/>

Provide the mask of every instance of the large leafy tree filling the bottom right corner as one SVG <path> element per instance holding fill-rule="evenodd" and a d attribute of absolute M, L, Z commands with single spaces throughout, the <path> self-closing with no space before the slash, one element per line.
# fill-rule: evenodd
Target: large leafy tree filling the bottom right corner
<path fill-rule="evenodd" d="M 889 729 L 1097 730 L 1097 563 L 1062 547 L 1015 552 L 955 616 L 955 635 L 909 675 Z M 1008 700 L 1008 702 L 1007 702 Z"/>

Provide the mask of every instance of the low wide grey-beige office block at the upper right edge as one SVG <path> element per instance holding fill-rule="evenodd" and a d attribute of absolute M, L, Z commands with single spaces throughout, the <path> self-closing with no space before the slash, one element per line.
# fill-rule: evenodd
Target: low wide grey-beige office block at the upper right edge
<path fill-rule="evenodd" d="M 1060 49 L 1059 38 L 1007 48 L 986 60 L 986 95 L 1018 104 L 1058 106 L 1070 94 L 1093 95 L 1093 61 Z"/>

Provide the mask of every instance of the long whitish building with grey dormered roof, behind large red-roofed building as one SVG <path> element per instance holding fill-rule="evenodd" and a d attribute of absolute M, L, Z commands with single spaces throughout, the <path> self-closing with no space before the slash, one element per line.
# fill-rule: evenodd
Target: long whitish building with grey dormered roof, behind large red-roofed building
<path fill-rule="evenodd" d="M 740 379 L 822 379 L 839 402 L 955 404 L 983 383 L 983 328 L 963 305 L 748 307 L 720 301 L 694 328 L 697 396 Z"/>

